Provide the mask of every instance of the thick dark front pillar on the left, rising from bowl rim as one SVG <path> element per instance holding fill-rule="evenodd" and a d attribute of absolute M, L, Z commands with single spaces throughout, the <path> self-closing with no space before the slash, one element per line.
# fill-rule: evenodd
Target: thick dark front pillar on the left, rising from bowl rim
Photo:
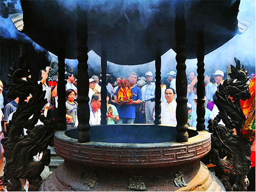
<path fill-rule="evenodd" d="M 78 59 L 78 79 L 77 82 L 77 101 L 79 103 L 77 116 L 78 116 L 78 141 L 81 143 L 89 142 L 91 140 L 90 130 L 90 108 L 89 108 L 89 76 L 88 76 L 88 29 L 86 11 L 77 8 L 77 59 Z"/>

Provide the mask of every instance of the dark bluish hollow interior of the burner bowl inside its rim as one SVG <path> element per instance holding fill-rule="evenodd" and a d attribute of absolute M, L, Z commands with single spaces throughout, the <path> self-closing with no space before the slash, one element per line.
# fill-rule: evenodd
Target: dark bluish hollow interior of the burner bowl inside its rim
<path fill-rule="evenodd" d="M 176 140 L 176 127 L 154 124 L 93 125 L 91 141 L 108 143 L 161 143 Z M 66 131 L 67 136 L 77 139 L 78 130 Z M 189 130 L 189 137 L 198 135 Z"/>

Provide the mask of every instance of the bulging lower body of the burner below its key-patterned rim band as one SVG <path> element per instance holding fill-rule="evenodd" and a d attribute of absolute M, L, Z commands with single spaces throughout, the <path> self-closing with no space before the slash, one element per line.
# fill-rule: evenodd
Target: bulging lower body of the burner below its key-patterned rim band
<path fill-rule="evenodd" d="M 186 186 L 175 186 L 182 172 Z M 183 184 L 184 184 L 183 183 Z M 89 167 L 70 161 L 61 163 L 40 186 L 41 191 L 225 191 L 224 186 L 200 162 L 175 167 L 115 169 Z"/>

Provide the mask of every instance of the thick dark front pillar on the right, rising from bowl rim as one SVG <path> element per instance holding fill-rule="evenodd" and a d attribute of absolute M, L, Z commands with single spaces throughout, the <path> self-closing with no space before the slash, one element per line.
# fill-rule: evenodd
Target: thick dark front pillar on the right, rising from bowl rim
<path fill-rule="evenodd" d="M 176 61 L 177 61 L 177 77 L 176 77 L 176 93 L 177 93 L 177 142 L 187 142 L 187 77 L 186 77 L 186 25 L 184 18 L 184 2 L 180 1 L 175 4 L 175 38 L 176 38 Z"/>

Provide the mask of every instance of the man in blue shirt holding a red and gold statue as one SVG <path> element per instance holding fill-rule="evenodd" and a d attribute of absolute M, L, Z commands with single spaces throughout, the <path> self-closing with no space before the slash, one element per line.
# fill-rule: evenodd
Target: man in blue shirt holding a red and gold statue
<path fill-rule="evenodd" d="M 132 102 L 123 103 L 117 102 L 117 92 L 114 93 L 114 99 L 117 102 L 117 111 L 119 113 L 119 121 L 118 124 L 132 124 L 135 121 L 135 110 L 136 105 L 142 102 L 141 90 L 139 87 L 135 86 L 137 81 L 137 73 L 132 72 L 129 75 L 128 81 L 131 86 L 131 90 L 133 92 Z"/>

